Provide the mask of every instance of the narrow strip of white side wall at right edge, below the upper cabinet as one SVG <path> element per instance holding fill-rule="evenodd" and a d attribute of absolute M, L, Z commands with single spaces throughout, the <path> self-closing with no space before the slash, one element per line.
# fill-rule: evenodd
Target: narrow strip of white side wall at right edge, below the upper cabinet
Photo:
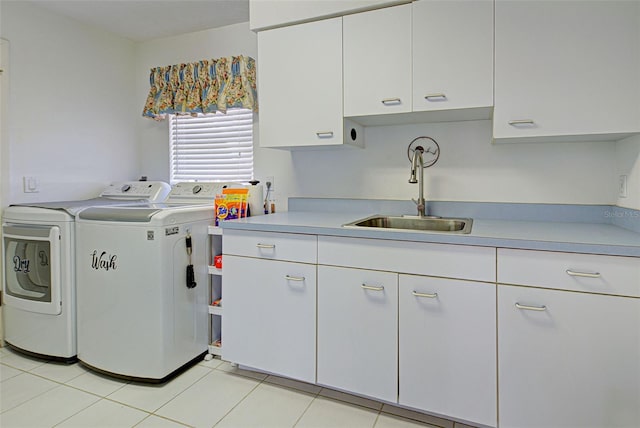
<path fill-rule="evenodd" d="M 627 176 L 627 197 L 619 197 L 617 205 L 640 210 L 640 135 L 616 143 L 616 160 L 616 179 Z"/>

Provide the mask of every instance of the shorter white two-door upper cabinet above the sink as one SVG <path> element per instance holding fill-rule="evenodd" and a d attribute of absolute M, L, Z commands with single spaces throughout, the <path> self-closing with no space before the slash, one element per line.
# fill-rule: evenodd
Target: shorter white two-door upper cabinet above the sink
<path fill-rule="evenodd" d="M 491 117 L 493 0 L 421 0 L 343 19 L 345 117 L 364 125 Z"/>

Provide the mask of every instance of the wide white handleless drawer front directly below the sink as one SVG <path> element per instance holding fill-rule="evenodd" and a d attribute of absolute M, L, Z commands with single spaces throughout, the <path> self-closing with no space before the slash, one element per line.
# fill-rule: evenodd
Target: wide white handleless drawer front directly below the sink
<path fill-rule="evenodd" d="M 495 257 L 489 247 L 318 237 L 318 264 L 325 265 L 495 282 Z"/>

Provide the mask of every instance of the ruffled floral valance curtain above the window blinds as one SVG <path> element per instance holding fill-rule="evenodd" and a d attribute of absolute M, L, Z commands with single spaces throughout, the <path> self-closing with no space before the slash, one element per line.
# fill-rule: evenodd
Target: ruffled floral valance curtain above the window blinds
<path fill-rule="evenodd" d="M 151 69 L 151 89 L 142 115 L 226 113 L 241 107 L 258 111 L 253 58 L 232 56 Z"/>

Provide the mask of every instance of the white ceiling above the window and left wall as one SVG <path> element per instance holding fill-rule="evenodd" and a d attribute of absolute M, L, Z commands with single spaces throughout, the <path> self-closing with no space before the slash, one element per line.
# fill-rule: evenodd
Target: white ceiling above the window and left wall
<path fill-rule="evenodd" d="M 135 42 L 249 21 L 249 0 L 31 0 Z"/>

